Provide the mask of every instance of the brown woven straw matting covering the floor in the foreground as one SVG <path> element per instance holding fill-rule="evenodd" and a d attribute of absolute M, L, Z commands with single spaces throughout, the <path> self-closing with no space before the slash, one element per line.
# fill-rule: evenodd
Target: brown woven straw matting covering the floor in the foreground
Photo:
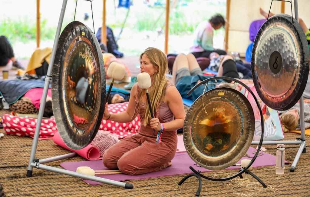
<path fill-rule="evenodd" d="M 9 113 L 1 110 L 0 115 Z M 3 129 L 0 132 L 4 133 Z M 295 133 L 286 133 L 286 140 L 299 137 Z M 134 185 L 134 189 L 124 189 L 112 185 L 87 185 L 84 181 L 67 175 L 33 168 L 33 177 L 26 177 L 29 163 L 32 138 L 7 136 L 0 139 L 0 182 L 7 196 L 195 196 L 198 181 L 191 177 L 181 186 L 178 182 L 185 175 L 152 178 L 146 180 L 126 181 Z M 309 143 L 310 137 L 306 137 Z M 267 153 L 275 154 L 276 145 L 265 145 Z M 286 160 L 293 162 L 298 151 L 297 145 L 286 145 Z M 263 188 L 250 175 L 243 174 L 228 181 L 203 180 L 200 196 L 310 196 L 310 164 L 308 152 L 302 154 L 295 172 L 289 172 L 286 165 L 285 174 L 277 175 L 275 167 L 260 167 L 252 170 L 267 185 Z M 44 159 L 69 153 L 54 144 L 52 140 L 38 142 L 36 158 Z M 83 161 L 74 157 L 48 163 L 60 167 L 61 162 Z M 219 178 L 232 176 L 237 171 L 220 171 L 204 173 L 205 176 Z M 1 188 L 1 187 L 0 187 Z M 1 196 L 1 189 L 0 189 Z"/>

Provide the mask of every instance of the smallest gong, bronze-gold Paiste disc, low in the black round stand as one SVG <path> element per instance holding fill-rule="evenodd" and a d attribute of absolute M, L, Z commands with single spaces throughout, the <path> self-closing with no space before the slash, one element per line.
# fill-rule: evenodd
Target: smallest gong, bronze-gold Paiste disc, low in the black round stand
<path fill-rule="evenodd" d="M 232 88 L 215 88 L 199 96 L 189 108 L 184 145 L 197 164 L 221 170 L 244 156 L 254 130 L 254 112 L 246 97 Z"/>

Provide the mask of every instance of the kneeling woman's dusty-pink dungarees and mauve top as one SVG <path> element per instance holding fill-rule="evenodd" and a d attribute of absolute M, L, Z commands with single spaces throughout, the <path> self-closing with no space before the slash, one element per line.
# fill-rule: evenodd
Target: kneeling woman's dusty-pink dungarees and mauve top
<path fill-rule="evenodd" d="M 172 84 L 168 84 L 166 89 Z M 139 87 L 135 99 L 135 113 L 139 106 Z M 144 114 L 145 104 L 141 103 L 139 115 Z M 168 104 L 162 102 L 156 109 L 156 118 L 161 123 L 174 119 Z M 175 131 L 164 131 L 161 143 L 156 143 L 157 131 L 153 132 L 150 124 L 143 125 L 135 136 L 128 136 L 110 147 L 103 155 L 104 166 L 109 169 L 119 169 L 124 174 L 138 175 L 161 170 L 167 166 L 175 156 L 177 147 L 177 133 Z"/>

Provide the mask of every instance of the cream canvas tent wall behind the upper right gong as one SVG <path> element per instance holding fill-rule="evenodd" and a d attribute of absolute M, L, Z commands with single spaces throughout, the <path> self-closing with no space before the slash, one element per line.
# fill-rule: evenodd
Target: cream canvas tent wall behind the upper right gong
<path fill-rule="evenodd" d="M 310 28 L 309 0 L 298 0 L 298 12 L 306 25 Z M 249 39 L 249 27 L 253 20 L 263 19 L 259 13 L 261 7 L 269 11 L 271 0 L 227 0 L 227 13 L 229 25 L 226 30 L 227 51 L 237 51 L 245 56 L 246 48 L 251 43 Z M 292 0 L 294 17 L 294 0 Z M 291 15 L 290 2 L 273 1 L 271 12 L 281 12 Z"/>

